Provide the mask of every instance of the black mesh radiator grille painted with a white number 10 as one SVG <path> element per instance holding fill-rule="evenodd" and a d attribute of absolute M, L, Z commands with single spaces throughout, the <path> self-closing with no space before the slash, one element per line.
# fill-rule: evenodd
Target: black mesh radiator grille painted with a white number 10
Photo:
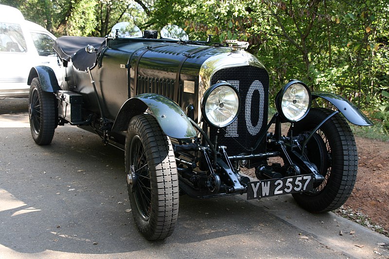
<path fill-rule="evenodd" d="M 237 67 L 221 69 L 211 79 L 211 85 L 217 81 L 227 81 L 239 90 L 241 110 L 232 124 L 220 130 L 210 130 L 210 138 L 214 143 L 216 134 L 218 145 L 227 147 L 228 155 L 250 153 L 258 137 L 266 130 L 269 77 L 265 69 L 257 67 Z M 265 151 L 265 138 L 256 152 Z"/>

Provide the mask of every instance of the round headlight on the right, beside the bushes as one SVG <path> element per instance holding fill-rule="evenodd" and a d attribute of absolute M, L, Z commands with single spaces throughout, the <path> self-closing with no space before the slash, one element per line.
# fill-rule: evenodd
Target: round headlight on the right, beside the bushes
<path fill-rule="evenodd" d="M 300 121 L 311 107 L 311 91 L 300 81 L 290 81 L 278 92 L 276 108 L 278 113 L 289 122 Z"/>

